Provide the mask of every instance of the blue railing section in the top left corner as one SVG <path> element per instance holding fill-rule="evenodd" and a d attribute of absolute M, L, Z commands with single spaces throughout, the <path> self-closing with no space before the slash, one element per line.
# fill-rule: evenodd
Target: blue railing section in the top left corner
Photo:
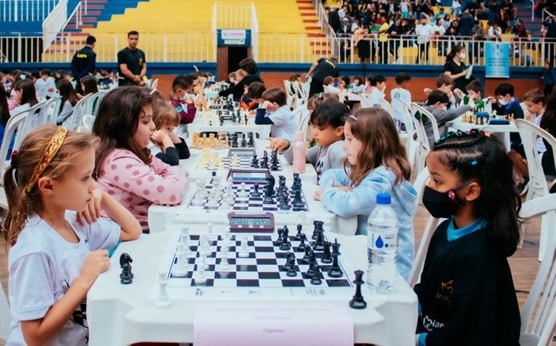
<path fill-rule="evenodd" d="M 2 0 L 1 22 L 35 22 L 44 20 L 59 0 Z"/>

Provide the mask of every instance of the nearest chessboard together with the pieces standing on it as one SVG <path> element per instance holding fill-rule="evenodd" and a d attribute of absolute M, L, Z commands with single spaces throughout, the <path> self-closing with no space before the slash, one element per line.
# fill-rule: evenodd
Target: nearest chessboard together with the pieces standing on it
<path fill-rule="evenodd" d="M 292 235 L 287 226 L 278 228 L 275 239 L 260 229 L 215 233 L 211 226 L 208 233 L 193 235 L 192 227 L 185 226 L 168 244 L 159 273 L 165 287 L 153 295 L 155 299 L 199 292 L 210 296 L 226 289 L 237 296 L 254 296 L 242 289 L 250 288 L 257 289 L 257 296 L 272 298 L 280 296 L 282 288 L 292 288 L 289 294 L 299 297 L 318 290 L 321 295 L 352 298 L 353 270 L 340 260 L 340 243 L 326 239 L 321 221 L 313 225 L 309 239 L 301 224 Z M 361 293 L 357 299 L 364 301 Z"/>

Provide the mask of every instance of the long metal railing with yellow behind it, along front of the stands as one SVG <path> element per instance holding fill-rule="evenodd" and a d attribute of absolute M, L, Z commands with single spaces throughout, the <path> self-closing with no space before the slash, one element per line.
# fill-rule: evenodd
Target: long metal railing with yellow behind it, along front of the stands
<path fill-rule="evenodd" d="M 96 34 L 95 51 L 97 62 L 115 63 L 117 52 L 127 46 L 123 35 Z M 0 52 L 9 62 L 56 62 L 69 63 L 73 53 L 82 48 L 85 37 L 81 34 L 63 33 L 55 44 L 43 50 L 42 40 L 34 37 L 0 37 Z M 419 46 L 414 37 L 389 38 L 381 42 L 376 37 L 365 39 L 367 44 L 357 45 L 351 37 L 307 37 L 305 34 L 258 33 L 253 37 L 253 47 L 258 47 L 253 55 L 262 63 L 313 63 L 322 56 L 335 54 L 341 63 L 443 65 L 447 53 L 456 45 L 465 46 L 466 64 L 481 66 L 485 64 L 485 42 L 464 40 L 456 37 L 432 40 L 428 46 L 421 47 L 422 54 L 417 59 Z M 500 41 L 502 42 L 502 41 Z M 556 42 L 512 41 L 510 45 L 511 66 L 544 66 L 545 55 L 556 52 Z M 150 34 L 141 33 L 139 48 L 145 51 L 148 62 L 216 62 L 215 33 Z M 365 49 L 366 51 L 360 51 Z M 428 50 L 428 57 L 425 51 Z M 33 56 L 31 52 L 38 52 Z M 41 54 L 42 52 L 42 54 Z M 553 53 L 552 53 L 553 54 Z"/>

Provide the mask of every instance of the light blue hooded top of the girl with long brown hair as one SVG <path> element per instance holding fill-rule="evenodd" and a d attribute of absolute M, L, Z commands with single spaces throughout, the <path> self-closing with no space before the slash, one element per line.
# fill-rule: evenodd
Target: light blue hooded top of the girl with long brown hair
<path fill-rule="evenodd" d="M 415 257 L 413 216 L 417 209 L 417 192 L 407 180 L 396 184 L 395 179 L 394 172 L 380 166 L 370 171 L 351 191 L 341 191 L 332 185 L 351 186 L 349 177 L 344 168 L 329 169 L 320 179 L 324 190 L 321 202 L 328 211 L 336 215 L 357 215 L 355 234 L 366 235 L 367 219 L 376 206 L 376 195 L 389 193 L 391 207 L 398 215 L 398 272 L 407 280 Z"/>

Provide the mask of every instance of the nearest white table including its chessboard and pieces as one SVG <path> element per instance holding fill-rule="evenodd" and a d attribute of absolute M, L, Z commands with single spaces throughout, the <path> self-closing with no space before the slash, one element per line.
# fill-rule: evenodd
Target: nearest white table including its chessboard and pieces
<path fill-rule="evenodd" d="M 262 227 L 246 231 L 246 223 Z M 203 326 L 224 333 L 215 316 L 251 333 L 229 317 L 254 315 L 277 328 L 276 311 L 294 317 L 308 310 L 314 323 L 300 322 L 304 333 L 336 333 L 321 327 L 335 321 L 349 324 L 353 343 L 414 343 L 416 295 L 401 277 L 392 294 L 368 290 L 365 237 L 330 233 L 319 221 L 266 224 L 235 216 L 227 228 L 176 222 L 122 243 L 87 296 L 89 344 L 197 343 Z M 214 306 L 222 313 L 214 315 Z"/>

